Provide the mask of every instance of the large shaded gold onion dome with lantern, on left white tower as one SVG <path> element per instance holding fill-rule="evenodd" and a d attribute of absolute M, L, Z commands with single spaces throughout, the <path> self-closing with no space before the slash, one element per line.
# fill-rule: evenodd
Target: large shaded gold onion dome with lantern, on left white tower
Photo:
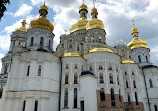
<path fill-rule="evenodd" d="M 47 10 L 48 7 L 44 3 L 44 5 L 42 5 L 39 9 L 39 13 L 40 13 L 39 18 L 35 18 L 31 20 L 29 27 L 30 29 L 38 27 L 38 28 L 48 29 L 51 32 L 54 30 L 53 24 L 48 19 L 46 19 L 46 15 L 48 14 Z"/>

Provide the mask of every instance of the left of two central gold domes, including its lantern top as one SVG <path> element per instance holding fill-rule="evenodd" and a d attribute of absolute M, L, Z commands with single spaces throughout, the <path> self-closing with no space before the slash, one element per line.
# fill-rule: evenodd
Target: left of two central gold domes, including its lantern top
<path fill-rule="evenodd" d="M 88 10 L 87 9 L 88 8 L 84 3 L 79 7 L 80 20 L 78 20 L 77 23 L 71 26 L 70 33 L 73 33 L 78 30 L 86 30 L 86 24 L 88 23 L 88 20 L 87 20 Z"/>

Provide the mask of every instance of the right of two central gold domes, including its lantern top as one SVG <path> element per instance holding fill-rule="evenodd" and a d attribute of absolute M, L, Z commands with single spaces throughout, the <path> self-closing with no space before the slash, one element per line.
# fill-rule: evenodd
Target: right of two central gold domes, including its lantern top
<path fill-rule="evenodd" d="M 92 9 L 91 15 L 92 15 L 92 20 L 90 20 L 87 23 L 86 30 L 94 29 L 94 28 L 104 29 L 103 22 L 97 18 L 98 11 L 95 7 Z"/>

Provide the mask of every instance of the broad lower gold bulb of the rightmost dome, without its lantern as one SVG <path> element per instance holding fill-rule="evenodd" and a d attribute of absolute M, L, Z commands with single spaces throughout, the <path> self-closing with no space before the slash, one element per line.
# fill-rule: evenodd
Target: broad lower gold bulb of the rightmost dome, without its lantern
<path fill-rule="evenodd" d="M 127 45 L 131 49 L 134 48 L 147 48 L 147 42 L 145 40 L 141 40 L 139 37 L 134 37 L 133 40 Z"/>

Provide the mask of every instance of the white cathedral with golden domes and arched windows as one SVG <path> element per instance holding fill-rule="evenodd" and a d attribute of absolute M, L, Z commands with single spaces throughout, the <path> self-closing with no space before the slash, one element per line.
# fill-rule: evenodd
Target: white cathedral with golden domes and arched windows
<path fill-rule="evenodd" d="M 80 19 L 53 49 L 53 24 L 39 17 L 11 34 L 2 58 L 0 111 L 158 111 L 158 67 L 133 25 L 131 42 L 107 45 L 98 11 L 79 7 Z"/>

